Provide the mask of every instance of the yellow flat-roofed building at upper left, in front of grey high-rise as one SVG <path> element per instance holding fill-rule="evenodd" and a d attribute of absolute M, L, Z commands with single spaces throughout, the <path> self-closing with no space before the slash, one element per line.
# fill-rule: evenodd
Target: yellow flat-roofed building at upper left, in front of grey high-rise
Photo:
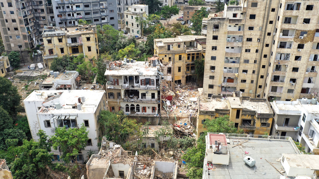
<path fill-rule="evenodd" d="M 43 61 L 50 68 L 54 58 L 64 55 L 84 54 L 85 60 L 97 59 L 99 46 L 95 25 L 78 25 L 68 28 L 45 27 L 42 34 L 44 42 Z"/>

